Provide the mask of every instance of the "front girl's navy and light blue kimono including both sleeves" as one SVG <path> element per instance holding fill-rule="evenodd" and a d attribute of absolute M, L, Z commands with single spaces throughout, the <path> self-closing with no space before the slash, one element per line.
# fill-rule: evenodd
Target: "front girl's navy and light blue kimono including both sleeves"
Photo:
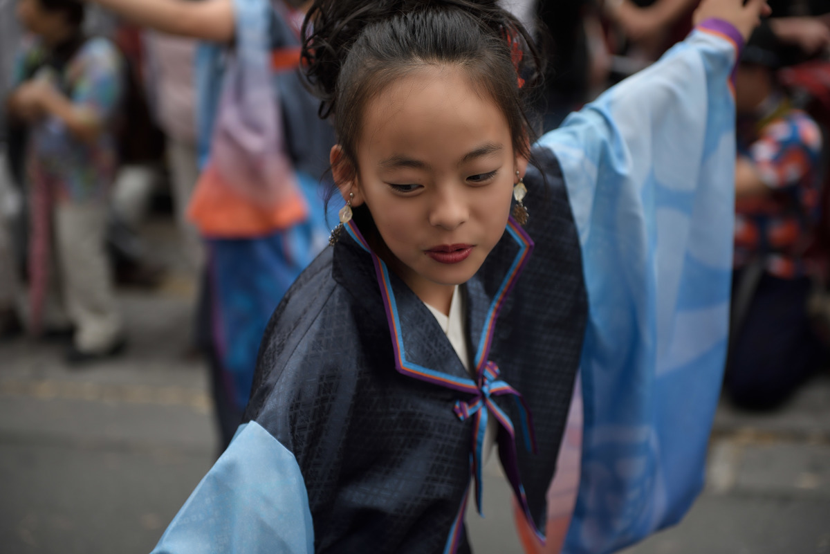
<path fill-rule="evenodd" d="M 350 222 L 271 318 L 246 423 L 155 552 L 469 552 L 490 418 L 544 540 L 578 371 L 567 551 L 681 518 L 725 358 L 737 43 L 706 22 L 536 145 L 530 221 L 461 287 L 475 379 Z"/>

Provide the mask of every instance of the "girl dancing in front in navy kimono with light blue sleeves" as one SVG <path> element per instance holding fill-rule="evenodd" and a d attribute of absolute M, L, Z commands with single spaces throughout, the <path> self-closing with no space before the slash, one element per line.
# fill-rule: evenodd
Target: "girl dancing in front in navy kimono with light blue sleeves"
<path fill-rule="evenodd" d="M 305 59 L 343 226 L 156 552 L 469 552 L 491 450 L 544 540 L 578 370 L 569 552 L 681 518 L 725 357 L 730 72 L 766 11 L 702 2 L 663 61 L 531 148 L 538 67 L 495 0 L 315 2 Z"/>

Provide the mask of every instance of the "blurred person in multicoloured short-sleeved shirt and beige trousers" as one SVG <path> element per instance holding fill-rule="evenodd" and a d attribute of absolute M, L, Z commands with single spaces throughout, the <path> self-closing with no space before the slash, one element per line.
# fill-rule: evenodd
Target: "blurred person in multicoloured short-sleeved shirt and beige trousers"
<path fill-rule="evenodd" d="M 122 63 L 110 41 L 87 39 L 79 2 L 19 0 L 17 16 L 32 35 L 6 102 L 28 135 L 28 323 L 35 334 L 70 326 L 67 361 L 89 362 L 125 344 L 105 251 Z"/>

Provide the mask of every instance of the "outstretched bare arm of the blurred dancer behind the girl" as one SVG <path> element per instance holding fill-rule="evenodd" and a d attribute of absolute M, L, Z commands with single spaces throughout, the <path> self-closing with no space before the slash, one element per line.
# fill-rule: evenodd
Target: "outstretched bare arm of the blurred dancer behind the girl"
<path fill-rule="evenodd" d="M 86 0 L 142 27 L 206 41 L 230 42 L 234 36 L 232 0 Z"/>

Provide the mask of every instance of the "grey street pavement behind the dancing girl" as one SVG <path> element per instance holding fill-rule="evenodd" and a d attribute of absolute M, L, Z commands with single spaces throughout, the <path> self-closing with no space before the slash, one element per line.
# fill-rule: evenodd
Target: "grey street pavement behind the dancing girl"
<path fill-rule="evenodd" d="M 125 357 L 81 371 L 61 344 L 0 342 L 0 552 L 149 552 L 212 464 L 202 362 L 186 357 L 193 276 L 172 224 L 148 227 L 172 268 L 161 289 L 121 291 Z M 478 554 L 520 552 L 510 492 L 486 469 Z M 677 527 L 626 554 L 830 554 L 830 374 L 768 416 L 720 407 L 706 491 Z"/>

